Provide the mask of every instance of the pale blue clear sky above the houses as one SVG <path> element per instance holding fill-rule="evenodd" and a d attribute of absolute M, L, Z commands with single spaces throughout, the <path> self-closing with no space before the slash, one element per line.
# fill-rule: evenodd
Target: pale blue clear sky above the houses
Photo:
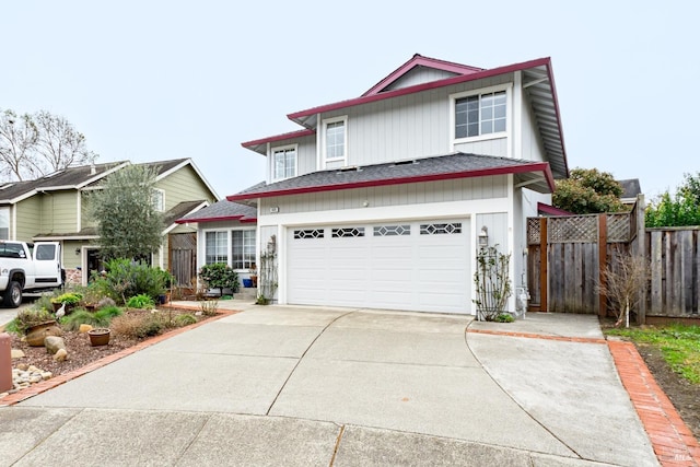
<path fill-rule="evenodd" d="M 413 54 L 551 57 L 569 167 L 651 198 L 700 171 L 699 19 L 695 0 L 4 1 L 0 108 L 62 115 L 98 162 L 191 157 L 224 197 L 265 177 L 241 142 Z"/>

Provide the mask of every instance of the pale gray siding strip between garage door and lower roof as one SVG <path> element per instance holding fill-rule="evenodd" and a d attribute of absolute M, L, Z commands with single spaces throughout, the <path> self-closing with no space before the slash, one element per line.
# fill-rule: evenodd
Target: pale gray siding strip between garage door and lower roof
<path fill-rule="evenodd" d="M 260 217 L 269 214 L 271 207 L 279 208 L 279 212 L 285 214 L 358 209 L 365 200 L 372 207 L 380 208 L 505 197 L 508 176 L 499 175 L 262 198 L 259 213 Z"/>

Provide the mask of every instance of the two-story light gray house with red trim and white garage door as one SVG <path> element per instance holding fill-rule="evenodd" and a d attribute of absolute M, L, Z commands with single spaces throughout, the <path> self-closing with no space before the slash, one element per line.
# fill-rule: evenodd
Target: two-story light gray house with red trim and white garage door
<path fill-rule="evenodd" d="M 228 197 L 257 205 L 278 303 L 475 313 L 480 234 L 525 287 L 525 220 L 569 174 L 549 58 L 416 55 L 360 97 L 288 117 L 303 128 L 243 143 L 267 157 L 266 184 Z"/>

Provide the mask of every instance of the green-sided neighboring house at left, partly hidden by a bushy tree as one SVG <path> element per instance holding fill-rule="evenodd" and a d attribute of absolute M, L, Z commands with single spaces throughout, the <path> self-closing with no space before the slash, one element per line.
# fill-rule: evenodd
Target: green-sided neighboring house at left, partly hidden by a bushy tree
<path fill-rule="evenodd" d="M 95 224 L 88 217 L 89 192 L 101 189 L 105 177 L 129 164 L 122 161 L 68 167 L 35 180 L 1 185 L 0 238 L 61 242 L 67 277 L 72 282 L 86 283 L 90 272 L 102 269 Z M 209 206 L 218 196 L 189 159 L 143 165 L 156 170 L 153 202 L 164 213 L 163 246 L 151 258 L 152 265 L 168 269 L 189 283 L 194 276 L 173 270 L 171 258 L 177 253 L 174 245 L 189 245 L 191 266 L 187 273 L 194 271 L 196 276 L 196 230 L 175 220 Z"/>

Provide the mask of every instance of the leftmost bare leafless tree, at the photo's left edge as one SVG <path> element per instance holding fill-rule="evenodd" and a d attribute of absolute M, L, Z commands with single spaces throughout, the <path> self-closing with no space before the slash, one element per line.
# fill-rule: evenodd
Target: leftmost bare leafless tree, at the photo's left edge
<path fill-rule="evenodd" d="M 39 132 L 28 114 L 18 115 L 14 110 L 0 114 L 0 173 L 19 180 L 31 177 L 25 167 L 35 165 L 32 157 L 39 139 Z"/>

